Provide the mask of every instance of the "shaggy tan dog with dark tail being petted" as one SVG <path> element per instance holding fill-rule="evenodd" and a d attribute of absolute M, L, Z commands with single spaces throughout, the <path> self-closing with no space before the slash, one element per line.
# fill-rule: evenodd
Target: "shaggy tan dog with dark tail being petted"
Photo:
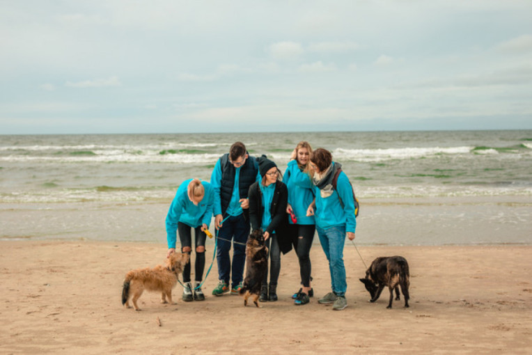
<path fill-rule="evenodd" d="M 167 303 L 166 298 L 172 303 L 172 289 L 177 285 L 178 276 L 189 262 L 189 258 L 189 254 L 171 253 L 166 258 L 166 265 L 157 265 L 153 269 L 134 269 L 125 274 L 122 289 L 124 307 L 131 308 L 131 299 L 135 310 L 141 310 L 136 301 L 144 290 L 162 292 L 161 303 Z"/>

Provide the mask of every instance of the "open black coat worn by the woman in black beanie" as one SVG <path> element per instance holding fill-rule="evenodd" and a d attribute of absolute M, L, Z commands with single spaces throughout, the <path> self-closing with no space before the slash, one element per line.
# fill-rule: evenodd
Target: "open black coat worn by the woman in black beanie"
<path fill-rule="evenodd" d="M 251 221 L 251 230 L 260 228 L 263 222 L 263 193 L 260 191 L 260 182 L 254 182 L 248 191 L 249 198 L 249 220 Z M 272 197 L 272 204 L 269 206 L 269 213 L 272 215 L 272 222 L 266 228 L 265 232 L 272 235 L 275 230 L 279 248 L 283 254 L 292 250 L 292 239 L 288 232 L 288 214 L 286 213 L 286 205 L 288 205 L 288 189 L 286 185 L 277 181 L 275 184 L 274 196 Z"/>

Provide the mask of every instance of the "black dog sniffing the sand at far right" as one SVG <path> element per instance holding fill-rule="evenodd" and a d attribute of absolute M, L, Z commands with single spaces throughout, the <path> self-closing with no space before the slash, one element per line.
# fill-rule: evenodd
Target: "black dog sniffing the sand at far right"
<path fill-rule="evenodd" d="M 366 277 L 360 278 L 360 281 L 366 285 L 366 290 L 370 292 L 370 302 L 375 302 L 379 299 L 384 286 L 389 287 L 390 303 L 386 308 L 391 308 L 394 289 L 396 290 L 396 300 L 400 299 L 399 286 L 401 286 L 402 295 L 405 297 L 405 307 L 408 307 L 410 273 L 408 262 L 402 256 L 390 256 L 373 260 L 366 271 Z"/>

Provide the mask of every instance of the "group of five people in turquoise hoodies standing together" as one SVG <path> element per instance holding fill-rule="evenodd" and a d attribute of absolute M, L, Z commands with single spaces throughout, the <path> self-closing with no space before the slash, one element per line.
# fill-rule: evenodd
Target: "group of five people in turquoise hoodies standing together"
<path fill-rule="evenodd" d="M 317 231 L 331 274 L 331 292 L 318 303 L 334 303 L 334 310 L 344 309 L 347 283 L 343 246 L 345 237 L 351 240 L 355 237 L 355 203 L 347 175 L 328 150 L 312 150 L 306 141 L 298 143 L 283 174 L 265 155 L 252 157 L 244 143 L 234 143 L 229 153 L 218 159 L 210 182 L 198 179 L 182 182 L 166 216 L 168 255 L 175 252 L 177 234 L 181 252 L 191 253 L 191 230 L 195 230 L 195 281 L 192 285 L 190 262 L 183 271 L 182 299 L 205 299 L 201 290 L 205 231 L 214 215 L 219 278 L 212 290 L 214 296 L 239 293 L 247 237 L 251 228 L 262 228 L 269 250 L 269 283 L 266 275 L 259 301 L 277 301 L 281 253 L 294 248 L 301 285 L 292 299 L 296 305 L 308 303 L 313 297 L 310 251 Z"/>

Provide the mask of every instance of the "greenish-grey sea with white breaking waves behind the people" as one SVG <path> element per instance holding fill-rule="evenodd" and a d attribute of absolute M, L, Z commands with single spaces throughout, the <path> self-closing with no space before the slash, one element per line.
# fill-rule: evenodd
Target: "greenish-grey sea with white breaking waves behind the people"
<path fill-rule="evenodd" d="M 0 205 L 169 205 L 182 181 L 209 181 L 235 141 L 281 171 L 299 141 L 330 150 L 361 213 L 365 203 L 396 198 L 532 200 L 532 130 L 478 130 L 1 135 Z"/>

